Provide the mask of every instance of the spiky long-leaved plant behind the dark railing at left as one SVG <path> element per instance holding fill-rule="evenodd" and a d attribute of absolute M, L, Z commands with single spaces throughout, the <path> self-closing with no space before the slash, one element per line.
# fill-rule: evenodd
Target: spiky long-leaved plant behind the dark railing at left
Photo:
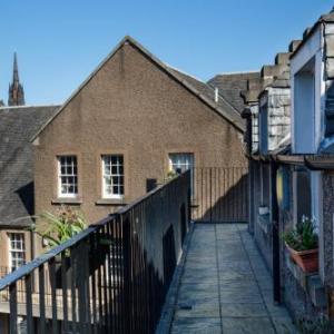
<path fill-rule="evenodd" d="M 45 223 L 46 228 L 36 225 L 31 229 L 42 237 L 43 243 L 48 248 L 56 247 L 66 240 L 72 238 L 87 227 L 86 219 L 79 210 L 73 210 L 70 207 L 61 206 L 56 214 L 43 213 L 39 216 Z M 56 256 L 56 287 L 61 287 L 61 257 Z M 69 256 L 66 255 L 66 281 L 67 285 L 71 284 L 71 265 Z M 51 279 L 50 279 L 51 281 Z M 52 282 L 52 281 L 51 281 Z"/>

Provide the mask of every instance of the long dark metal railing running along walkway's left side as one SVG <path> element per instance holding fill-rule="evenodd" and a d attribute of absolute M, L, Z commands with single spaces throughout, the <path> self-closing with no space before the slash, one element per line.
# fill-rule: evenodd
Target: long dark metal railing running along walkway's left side
<path fill-rule="evenodd" d="M 190 194 L 186 171 L 0 279 L 10 333 L 153 333 Z"/>

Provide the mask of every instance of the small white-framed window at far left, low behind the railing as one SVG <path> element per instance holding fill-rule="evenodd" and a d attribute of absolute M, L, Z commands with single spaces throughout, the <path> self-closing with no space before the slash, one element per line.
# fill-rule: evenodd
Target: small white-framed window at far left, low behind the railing
<path fill-rule="evenodd" d="M 26 263 L 26 245 L 23 233 L 9 233 L 9 267 L 14 271 Z"/>

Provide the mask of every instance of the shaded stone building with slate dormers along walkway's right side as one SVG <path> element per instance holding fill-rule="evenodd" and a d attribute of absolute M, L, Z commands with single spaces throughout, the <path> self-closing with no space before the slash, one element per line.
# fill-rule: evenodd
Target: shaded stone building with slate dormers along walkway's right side
<path fill-rule="evenodd" d="M 334 14 L 293 41 L 284 69 L 252 91 L 247 119 L 250 226 L 273 273 L 274 295 L 295 320 L 333 320 Z M 257 127 L 257 129 L 255 129 Z M 257 138 L 253 136 L 256 131 Z M 279 237 L 303 216 L 318 232 L 318 272 L 305 274 Z"/>

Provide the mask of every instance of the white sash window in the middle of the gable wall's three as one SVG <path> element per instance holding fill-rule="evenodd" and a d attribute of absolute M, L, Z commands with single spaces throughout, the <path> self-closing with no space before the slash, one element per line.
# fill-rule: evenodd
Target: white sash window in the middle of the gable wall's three
<path fill-rule="evenodd" d="M 102 197 L 124 197 L 124 157 L 122 155 L 102 155 Z"/>

